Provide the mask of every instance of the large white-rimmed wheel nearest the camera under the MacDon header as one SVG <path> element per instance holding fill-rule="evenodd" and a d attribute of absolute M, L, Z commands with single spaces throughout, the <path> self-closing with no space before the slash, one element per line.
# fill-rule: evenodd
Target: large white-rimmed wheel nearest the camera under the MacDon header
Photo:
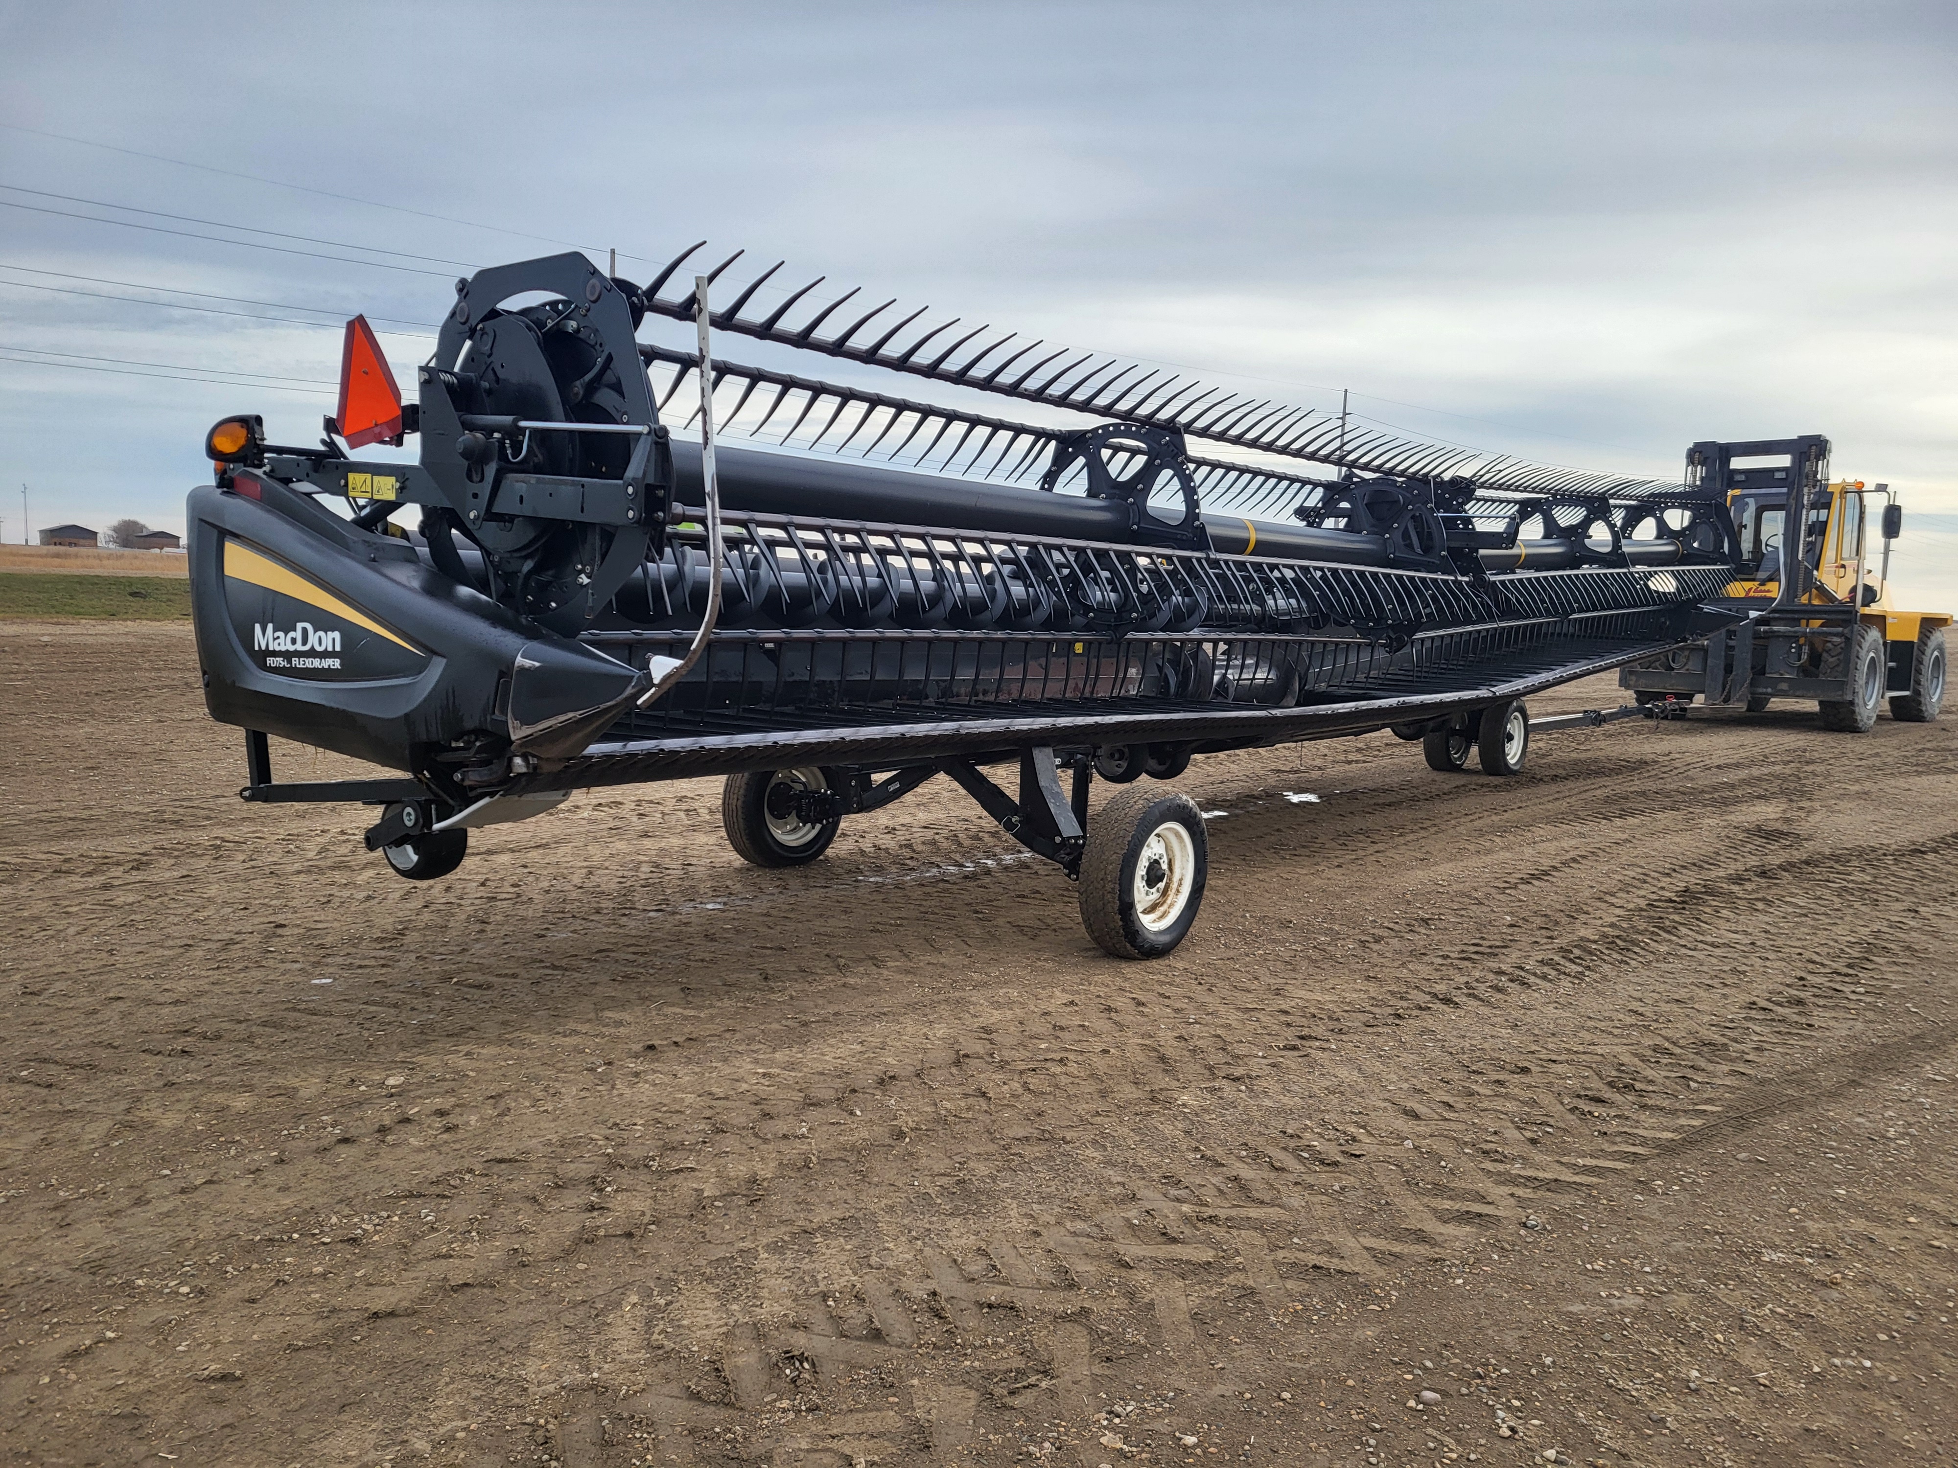
<path fill-rule="evenodd" d="M 1204 812 L 1190 797 L 1122 791 L 1089 822 L 1081 926 L 1102 953 L 1159 959 L 1196 922 L 1208 869 Z"/>

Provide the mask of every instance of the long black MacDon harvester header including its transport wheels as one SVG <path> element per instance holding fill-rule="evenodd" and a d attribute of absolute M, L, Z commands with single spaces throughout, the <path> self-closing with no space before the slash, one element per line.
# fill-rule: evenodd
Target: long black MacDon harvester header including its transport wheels
<path fill-rule="evenodd" d="M 192 603 L 247 801 L 370 806 L 366 848 L 435 879 L 574 791 L 719 775 L 732 848 L 789 867 L 942 775 L 1077 883 L 1102 949 L 1155 957 L 1208 875 L 1202 812 L 1161 785 L 1192 756 L 1392 728 L 1510 775 L 1527 697 L 1737 620 L 1723 495 L 973 346 L 922 311 L 873 331 L 889 301 L 824 335 L 856 292 L 748 311 L 773 272 L 711 309 L 724 264 L 662 294 L 685 258 L 644 288 L 582 254 L 484 270 L 419 401 L 356 317 L 317 446 L 211 429 Z M 662 319 L 691 350 L 640 341 Z M 738 366 L 711 333 L 942 401 Z M 411 435 L 413 462 L 354 456 Z M 282 783 L 268 736 L 394 773 Z M 1091 818 L 1096 777 L 1147 783 Z"/>

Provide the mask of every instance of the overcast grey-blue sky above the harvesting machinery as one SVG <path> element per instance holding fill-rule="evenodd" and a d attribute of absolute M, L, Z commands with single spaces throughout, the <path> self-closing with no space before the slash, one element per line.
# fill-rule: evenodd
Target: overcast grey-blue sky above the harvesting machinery
<path fill-rule="evenodd" d="M 1950 0 L 0 0 L 0 532 L 180 528 L 211 419 L 317 436 L 352 311 L 701 237 L 1537 460 L 1827 433 L 1952 515 L 1954 63 Z"/>

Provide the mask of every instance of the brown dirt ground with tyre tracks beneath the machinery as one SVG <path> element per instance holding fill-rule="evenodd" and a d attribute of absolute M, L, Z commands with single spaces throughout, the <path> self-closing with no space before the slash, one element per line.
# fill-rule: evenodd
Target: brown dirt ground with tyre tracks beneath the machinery
<path fill-rule="evenodd" d="M 0 1460 L 1954 1456 L 1958 720 L 1198 759 L 1138 965 L 942 783 L 411 885 L 188 628 L 0 665 Z"/>

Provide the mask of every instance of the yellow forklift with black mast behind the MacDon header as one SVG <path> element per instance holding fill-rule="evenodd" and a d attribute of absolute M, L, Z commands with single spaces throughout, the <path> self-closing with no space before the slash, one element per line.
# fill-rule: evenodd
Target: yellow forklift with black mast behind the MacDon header
<path fill-rule="evenodd" d="M 1889 716 L 1929 724 L 1944 705 L 1948 613 L 1889 605 L 1889 546 L 1903 509 L 1889 485 L 1829 478 L 1821 435 L 1702 442 L 1686 454 L 1686 482 L 1719 491 L 1739 544 L 1723 603 L 1739 624 L 1705 642 L 1631 664 L 1619 687 L 1641 705 L 1745 705 L 1774 699 L 1821 709 L 1823 728 L 1866 734 L 1884 697 Z M 1870 509 L 1884 552 L 1868 566 Z"/>

